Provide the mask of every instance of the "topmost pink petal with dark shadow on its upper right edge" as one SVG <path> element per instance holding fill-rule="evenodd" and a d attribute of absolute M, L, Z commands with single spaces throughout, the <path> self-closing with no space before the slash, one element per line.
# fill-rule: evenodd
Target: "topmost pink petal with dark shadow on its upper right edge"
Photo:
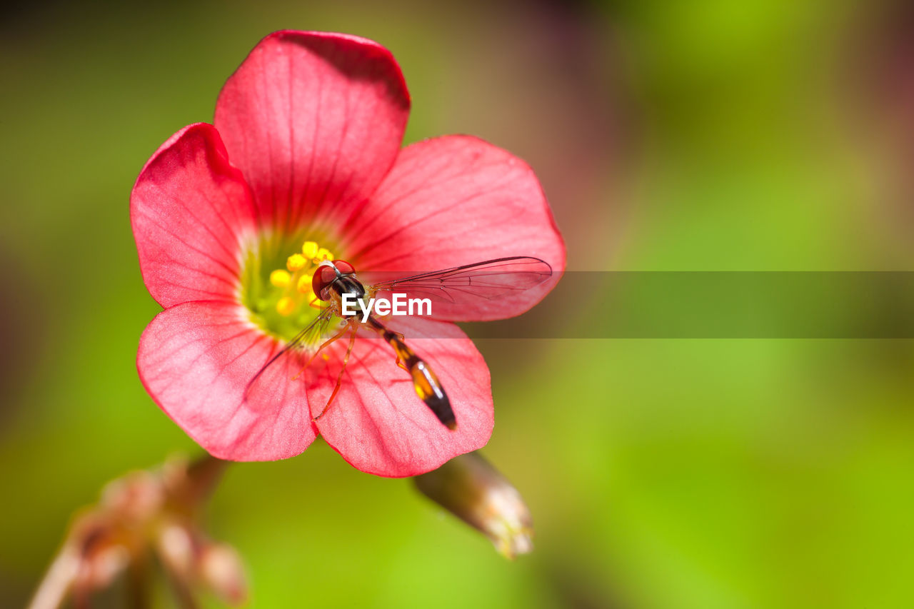
<path fill-rule="evenodd" d="M 275 32 L 228 79 L 216 125 L 265 224 L 346 218 L 397 156 L 409 92 L 388 49 L 365 38 Z M 314 228 L 311 226 L 310 228 Z"/>

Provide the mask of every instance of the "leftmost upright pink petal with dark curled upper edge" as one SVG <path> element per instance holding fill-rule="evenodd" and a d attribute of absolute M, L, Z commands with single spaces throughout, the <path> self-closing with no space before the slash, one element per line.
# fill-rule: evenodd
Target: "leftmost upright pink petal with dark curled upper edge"
<path fill-rule="evenodd" d="M 192 124 L 162 144 L 136 179 L 130 216 L 143 282 L 160 305 L 235 297 L 254 208 L 215 127 Z"/>

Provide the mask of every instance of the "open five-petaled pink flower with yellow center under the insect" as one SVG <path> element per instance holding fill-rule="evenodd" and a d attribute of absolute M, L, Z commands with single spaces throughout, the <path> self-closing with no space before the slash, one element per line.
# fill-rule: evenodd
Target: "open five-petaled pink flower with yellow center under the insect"
<path fill-rule="evenodd" d="M 403 476 L 488 441 L 489 371 L 451 322 L 536 305 L 558 281 L 565 248 L 525 163 L 463 135 L 400 150 L 408 114 L 409 93 L 386 48 L 281 31 L 228 79 L 214 125 L 185 127 L 143 167 L 131 196 L 133 235 L 143 282 L 165 310 L 143 332 L 137 368 L 154 401 L 210 454 L 282 459 L 321 434 L 358 469 Z M 245 396 L 263 364 L 317 314 L 306 303 L 308 260 L 292 256 L 289 270 L 278 270 L 302 249 L 356 272 L 409 274 L 513 255 L 556 272 L 537 289 L 481 300 L 446 320 L 391 322 L 438 373 L 455 431 L 416 397 L 379 340 L 356 341 L 333 407 L 314 421 L 344 340 L 297 379 L 309 350 L 279 360 Z"/>

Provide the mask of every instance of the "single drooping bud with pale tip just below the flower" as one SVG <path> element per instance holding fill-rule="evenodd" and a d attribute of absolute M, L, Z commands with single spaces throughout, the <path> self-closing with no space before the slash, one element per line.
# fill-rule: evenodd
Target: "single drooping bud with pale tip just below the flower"
<path fill-rule="evenodd" d="M 423 495 L 479 529 L 505 557 L 533 550 L 533 519 L 517 489 L 482 455 L 463 454 L 413 480 Z"/>

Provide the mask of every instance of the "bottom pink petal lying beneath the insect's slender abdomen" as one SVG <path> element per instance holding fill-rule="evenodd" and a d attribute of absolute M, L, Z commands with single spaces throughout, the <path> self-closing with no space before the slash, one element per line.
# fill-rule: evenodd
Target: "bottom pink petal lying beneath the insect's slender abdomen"
<path fill-rule="evenodd" d="M 398 317 L 389 326 L 438 375 L 457 429 L 442 425 L 420 401 L 391 347 L 360 332 L 339 393 L 316 423 L 327 443 L 363 472 L 387 476 L 423 474 L 484 446 L 492 435 L 492 387 L 473 342 L 457 326 L 426 319 Z M 330 364 L 309 383 L 315 416 L 335 386 L 345 341 L 334 347 Z"/>

